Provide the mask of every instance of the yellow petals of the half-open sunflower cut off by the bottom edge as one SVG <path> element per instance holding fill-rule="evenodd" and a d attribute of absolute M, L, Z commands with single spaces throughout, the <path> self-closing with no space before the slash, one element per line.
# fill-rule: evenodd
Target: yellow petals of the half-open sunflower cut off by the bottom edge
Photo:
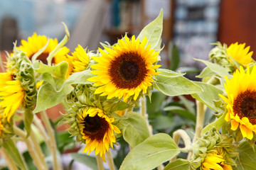
<path fill-rule="evenodd" d="M 201 165 L 202 170 L 232 170 L 232 166 L 225 164 L 225 152 L 222 148 L 215 149 L 206 154 L 206 158 Z"/>

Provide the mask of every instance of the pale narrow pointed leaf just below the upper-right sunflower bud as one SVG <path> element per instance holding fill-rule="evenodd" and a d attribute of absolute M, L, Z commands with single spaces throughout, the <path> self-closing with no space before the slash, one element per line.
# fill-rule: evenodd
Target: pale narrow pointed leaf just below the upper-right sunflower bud
<path fill-rule="evenodd" d="M 211 71 L 215 72 L 215 74 L 219 75 L 223 79 L 225 79 L 225 76 L 228 77 L 228 79 L 231 78 L 231 75 L 228 73 L 228 69 L 221 67 L 219 64 L 215 64 L 213 62 L 208 62 L 206 60 L 198 60 L 198 59 L 196 59 L 196 60 L 206 64 L 206 66 L 209 67 L 209 69 Z"/>

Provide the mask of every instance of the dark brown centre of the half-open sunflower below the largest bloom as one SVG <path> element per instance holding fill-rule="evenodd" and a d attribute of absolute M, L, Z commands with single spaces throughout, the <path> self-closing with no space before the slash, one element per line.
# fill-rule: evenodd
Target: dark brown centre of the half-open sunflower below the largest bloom
<path fill-rule="evenodd" d="M 89 136 L 90 140 L 102 141 L 105 133 L 110 128 L 105 118 L 100 118 L 98 115 L 94 117 L 87 115 L 84 121 L 85 128 L 83 132 Z"/>

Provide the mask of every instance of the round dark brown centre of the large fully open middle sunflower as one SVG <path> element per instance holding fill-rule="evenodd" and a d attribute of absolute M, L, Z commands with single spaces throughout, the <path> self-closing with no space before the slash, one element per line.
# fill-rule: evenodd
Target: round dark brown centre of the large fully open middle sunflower
<path fill-rule="evenodd" d="M 136 52 L 124 52 L 115 58 L 109 69 L 112 83 L 119 89 L 139 86 L 146 77 L 145 60 Z"/>

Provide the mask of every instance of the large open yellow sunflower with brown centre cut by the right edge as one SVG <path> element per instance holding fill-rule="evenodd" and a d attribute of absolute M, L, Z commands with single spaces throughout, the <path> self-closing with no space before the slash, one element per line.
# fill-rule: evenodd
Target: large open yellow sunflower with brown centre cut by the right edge
<path fill-rule="evenodd" d="M 226 103 L 228 113 L 225 120 L 231 120 L 231 130 L 238 126 L 242 137 L 252 140 L 256 132 L 256 67 L 251 71 L 247 67 L 246 73 L 242 67 L 237 69 L 230 80 L 226 77 L 225 91 L 227 97 L 220 95 Z"/>

